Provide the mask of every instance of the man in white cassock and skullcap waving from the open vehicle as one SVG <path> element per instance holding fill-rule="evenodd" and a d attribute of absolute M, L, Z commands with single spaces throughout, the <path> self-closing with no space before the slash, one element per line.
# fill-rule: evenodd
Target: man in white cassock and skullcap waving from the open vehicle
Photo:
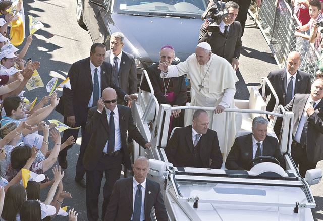
<path fill-rule="evenodd" d="M 211 46 L 202 42 L 186 61 L 171 66 L 161 63 L 158 68 L 161 70 L 161 78 L 187 74 L 191 82 L 191 106 L 216 107 L 214 114 L 208 112 L 210 119 L 208 128 L 217 131 L 220 149 L 226 158 L 234 142 L 236 124 L 235 114 L 223 113 L 223 110 L 234 107 L 235 84 L 238 78 L 232 65 L 211 51 Z M 191 124 L 192 118 L 193 111 L 185 111 L 185 126 Z M 225 130 L 226 121 L 227 130 Z"/>

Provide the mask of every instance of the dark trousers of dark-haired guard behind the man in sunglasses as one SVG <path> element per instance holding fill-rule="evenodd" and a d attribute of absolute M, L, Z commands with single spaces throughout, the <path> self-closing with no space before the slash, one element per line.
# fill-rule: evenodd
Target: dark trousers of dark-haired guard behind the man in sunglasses
<path fill-rule="evenodd" d="M 64 124 L 67 124 L 66 117 L 64 118 Z M 81 124 L 81 136 L 82 136 L 82 143 L 80 146 L 80 155 L 77 159 L 76 163 L 76 174 L 75 174 L 75 179 L 80 180 L 83 178 L 85 174 L 85 169 L 83 167 L 83 156 L 85 149 L 90 141 L 91 135 L 85 130 L 85 123 Z M 77 127 L 77 126 L 75 126 Z M 63 132 L 63 138 L 62 138 L 62 143 L 64 143 L 70 136 L 73 136 L 75 140 L 77 140 L 79 134 L 79 129 L 67 129 Z M 67 146 L 65 149 L 63 149 L 60 154 L 59 154 L 59 163 L 62 160 L 66 159 L 67 156 L 67 150 L 70 149 L 73 145 Z"/>

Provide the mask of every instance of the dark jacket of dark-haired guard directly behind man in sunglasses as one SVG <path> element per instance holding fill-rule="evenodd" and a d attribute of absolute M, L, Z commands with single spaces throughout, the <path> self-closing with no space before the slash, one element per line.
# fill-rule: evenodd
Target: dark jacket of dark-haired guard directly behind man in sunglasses
<path fill-rule="evenodd" d="M 74 115 L 76 123 L 81 125 L 86 123 L 87 106 L 93 91 L 90 58 L 73 63 L 67 77 L 70 78 L 72 90 L 63 88 L 63 96 L 60 99 L 59 105 L 56 107 L 56 111 L 64 117 Z M 114 88 L 120 96 L 124 97 L 126 95 L 112 81 L 111 64 L 103 62 L 101 65 L 101 93 L 107 87 Z M 93 105 L 96 106 L 96 103 Z"/>

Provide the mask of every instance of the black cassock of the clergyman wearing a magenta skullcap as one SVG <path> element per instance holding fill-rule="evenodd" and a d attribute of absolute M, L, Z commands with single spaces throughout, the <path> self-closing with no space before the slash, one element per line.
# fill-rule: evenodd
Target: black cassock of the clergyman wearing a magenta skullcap
<path fill-rule="evenodd" d="M 176 96 L 174 103 L 171 104 L 166 100 L 164 96 L 165 88 L 164 88 L 163 78 L 160 77 L 160 70 L 158 69 L 158 65 L 159 65 L 158 63 L 155 63 L 153 65 L 150 65 L 146 69 L 154 90 L 154 95 L 157 98 L 158 103 L 169 104 L 172 106 L 173 105 L 185 106 L 187 101 L 187 87 L 186 87 L 184 76 L 171 78 L 174 94 Z M 165 86 L 167 87 L 167 85 Z M 150 92 L 150 89 L 145 77 L 140 85 L 140 89 Z"/>

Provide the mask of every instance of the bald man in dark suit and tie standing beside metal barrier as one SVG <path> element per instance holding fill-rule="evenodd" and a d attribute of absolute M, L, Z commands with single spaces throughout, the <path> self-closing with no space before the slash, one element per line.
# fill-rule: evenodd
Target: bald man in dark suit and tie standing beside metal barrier
<path fill-rule="evenodd" d="M 288 54 L 286 69 L 271 71 L 267 78 L 272 83 L 273 88 L 278 96 L 278 105 L 286 106 L 294 97 L 294 94 L 309 93 L 311 89 L 310 75 L 306 72 L 297 70 L 300 65 L 300 54 L 292 51 Z M 259 89 L 261 94 L 262 88 Z M 266 86 L 265 97 L 271 94 L 271 90 Z M 275 107 L 275 97 L 271 96 L 267 104 L 266 111 L 273 111 Z M 274 131 L 279 137 L 282 127 L 282 119 L 278 118 Z"/>

